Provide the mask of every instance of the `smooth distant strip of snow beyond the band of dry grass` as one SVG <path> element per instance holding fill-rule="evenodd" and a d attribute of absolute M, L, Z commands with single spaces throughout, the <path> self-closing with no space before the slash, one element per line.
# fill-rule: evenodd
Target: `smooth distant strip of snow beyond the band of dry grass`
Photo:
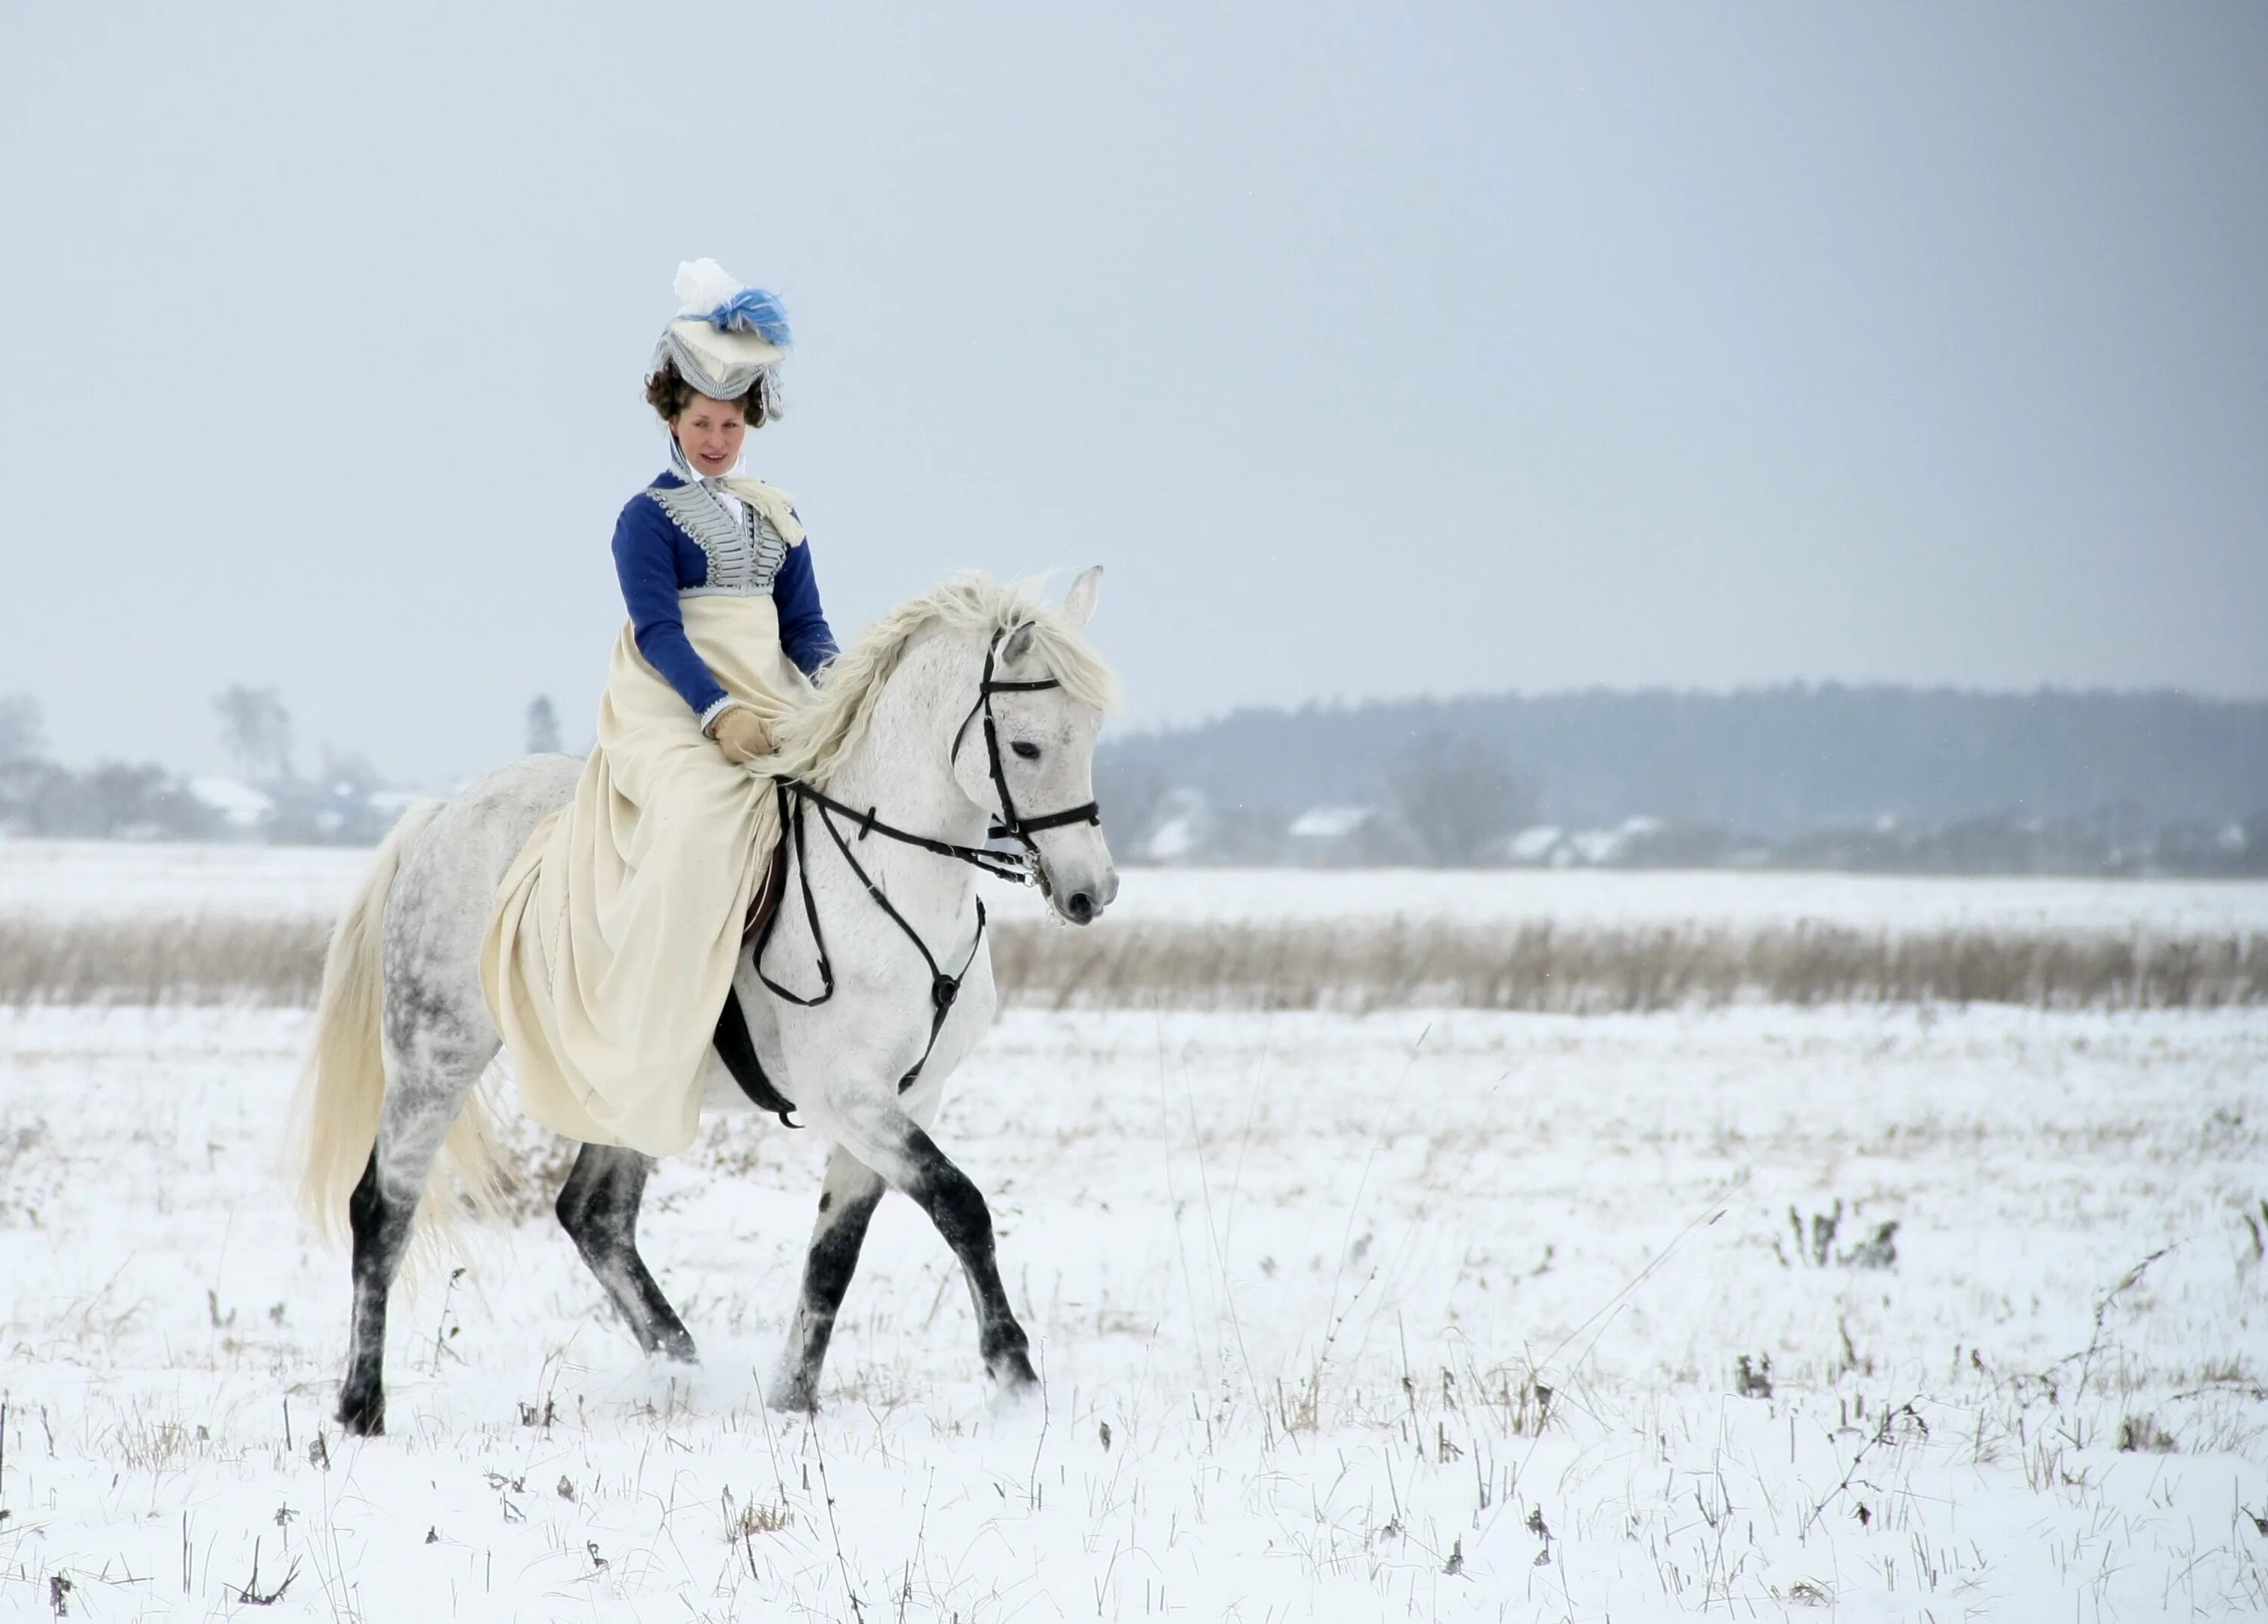
<path fill-rule="evenodd" d="M 336 914 L 370 853 L 324 846 L 159 846 L 0 839 L 0 916 Z M 2268 880 L 2032 880 L 1606 869 L 1129 869 L 1114 919 L 1300 923 L 1438 919 L 1572 925 L 1799 919 L 1860 930 L 2268 932 Z M 1027 894 L 989 896 L 1036 914 Z"/>

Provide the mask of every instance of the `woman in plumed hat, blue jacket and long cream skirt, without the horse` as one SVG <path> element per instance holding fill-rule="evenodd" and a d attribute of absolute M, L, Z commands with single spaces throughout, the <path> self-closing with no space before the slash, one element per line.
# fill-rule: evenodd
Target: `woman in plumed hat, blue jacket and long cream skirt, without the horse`
<path fill-rule="evenodd" d="M 780 413 L 787 318 L 714 261 L 678 268 L 646 401 L 671 467 L 615 522 L 628 626 L 576 798 L 497 894 L 481 955 L 531 1116 L 660 1157 L 692 1143 L 742 921 L 778 837 L 751 771 L 835 658 L 803 522 L 742 476 Z"/>

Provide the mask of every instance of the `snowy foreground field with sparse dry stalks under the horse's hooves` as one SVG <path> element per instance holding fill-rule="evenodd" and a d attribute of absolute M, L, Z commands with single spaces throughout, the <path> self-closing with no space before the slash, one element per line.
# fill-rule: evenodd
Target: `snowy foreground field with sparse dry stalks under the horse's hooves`
<path fill-rule="evenodd" d="M 0 1617 L 2268 1613 L 2259 1012 L 1023 1012 L 939 1139 L 1043 1404 L 894 1198 L 771 1418 L 821 1148 L 733 1120 L 642 1227 L 699 1370 L 538 1216 L 372 1443 L 302 1032 L 0 1012 Z"/>

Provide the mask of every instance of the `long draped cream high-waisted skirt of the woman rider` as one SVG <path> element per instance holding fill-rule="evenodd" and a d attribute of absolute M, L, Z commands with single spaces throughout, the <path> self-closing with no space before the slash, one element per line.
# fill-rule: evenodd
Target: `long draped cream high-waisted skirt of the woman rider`
<path fill-rule="evenodd" d="M 771 597 L 680 599 L 685 635 L 739 703 L 778 719 L 810 696 Z M 519 1105 L 569 1139 L 667 1157 L 701 1125 L 717 1012 L 778 841 L 771 780 L 735 767 L 637 653 L 599 705 L 599 748 L 497 887 L 481 987 Z"/>

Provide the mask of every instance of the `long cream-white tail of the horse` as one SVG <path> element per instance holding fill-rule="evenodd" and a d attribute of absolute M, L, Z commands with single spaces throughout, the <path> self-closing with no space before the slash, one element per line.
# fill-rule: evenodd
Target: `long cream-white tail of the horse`
<path fill-rule="evenodd" d="M 379 1032 L 386 1005 L 386 896 L 395 889 L 404 853 L 440 810 L 440 801 L 420 801 L 401 814 L 379 844 L 363 889 L 340 914 L 331 950 L 322 959 L 315 1041 L 293 1096 L 288 1143 L 299 1168 L 299 1211 L 333 1241 L 345 1232 L 347 1198 L 379 1143 L 379 1109 L 386 1105 L 386 1048 Z M 449 1143 L 435 1157 L 417 1223 L 447 1223 L 456 1207 L 451 1182 L 476 1204 L 492 1204 L 499 1177 L 488 1116 L 474 1089 L 449 1130 Z"/>

